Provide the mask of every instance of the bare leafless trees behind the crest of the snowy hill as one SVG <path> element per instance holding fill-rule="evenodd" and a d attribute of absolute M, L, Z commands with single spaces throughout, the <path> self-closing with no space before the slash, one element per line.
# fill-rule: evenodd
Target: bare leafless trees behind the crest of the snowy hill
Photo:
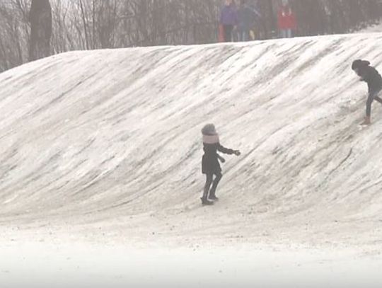
<path fill-rule="evenodd" d="M 382 16 L 381 0 L 289 0 L 297 35 L 347 33 Z M 248 0 L 257 39 L 277 35 L 278 0 Z M 1 0 L 0 71 L 71 50 L 218 41 L 221 0 Z"/>

